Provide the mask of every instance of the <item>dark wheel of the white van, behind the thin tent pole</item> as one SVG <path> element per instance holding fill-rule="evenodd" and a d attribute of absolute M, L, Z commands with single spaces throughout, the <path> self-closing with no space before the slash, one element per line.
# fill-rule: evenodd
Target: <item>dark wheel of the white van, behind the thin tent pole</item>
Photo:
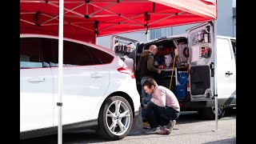
<path fill-rule="evenodd" d="M 218 119 L 222 118 L 226 112 L 225 106 L 218 106 Z M 215 119 L 215 106 L 206 107 L 202 110 L 202 115 L 208 119 Z"/>

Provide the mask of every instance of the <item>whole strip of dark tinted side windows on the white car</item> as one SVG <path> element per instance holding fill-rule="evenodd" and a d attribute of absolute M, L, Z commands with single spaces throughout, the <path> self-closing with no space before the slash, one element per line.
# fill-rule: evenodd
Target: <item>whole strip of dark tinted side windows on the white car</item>
<path fill-rule="evenodd" d="M 21 38 L 21 67 L 58 66 L 58 39 Z M 110 63 L 113 56 L 76 42 L 63 42 L 63 66 Z"/>

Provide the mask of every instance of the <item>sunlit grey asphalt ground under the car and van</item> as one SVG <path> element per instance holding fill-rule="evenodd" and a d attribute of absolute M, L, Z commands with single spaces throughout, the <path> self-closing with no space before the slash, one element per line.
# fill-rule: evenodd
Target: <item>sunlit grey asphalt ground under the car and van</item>
<path fill-rule="evenodd" d="M 41 138 L 30 138 L 21 140 L 20 143 L 56 144 L 58 135 Z M 106 141 L 99 138 L 94 130 L 83 130 L 62 135 L 63 144 L 84 143 L 118 143 L 118 144 L 217 144 L 236 143 L 236 110 L 226 113 L 224 118 L 218 119 L 216 130 L 215 120 L 205 120 L 196 112 L 182 112 L 178 118 L 174 130 L 169 135 L 160 134 L 129 134 L 126 138 L 118 141 Z"/>

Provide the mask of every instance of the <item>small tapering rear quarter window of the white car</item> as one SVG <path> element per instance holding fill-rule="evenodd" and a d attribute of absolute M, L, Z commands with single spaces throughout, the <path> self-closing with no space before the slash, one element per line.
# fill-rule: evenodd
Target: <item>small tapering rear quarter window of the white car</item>
<path fill-rule="evenodd" d="M 94 54 L 95 61 L 96 61 L 96 58 L 100 59 L 100 62 L 98 62 L 97 64 L 110 63 L 114 59 L 114 57 L 112 55 L 107 54 L 106 52 L 104 52 L 102 50 L 98 50 L 98 49 L 94 49 L 94 48 L 91 48 L 90 50 L 91 50 L 92 54 Z"/>

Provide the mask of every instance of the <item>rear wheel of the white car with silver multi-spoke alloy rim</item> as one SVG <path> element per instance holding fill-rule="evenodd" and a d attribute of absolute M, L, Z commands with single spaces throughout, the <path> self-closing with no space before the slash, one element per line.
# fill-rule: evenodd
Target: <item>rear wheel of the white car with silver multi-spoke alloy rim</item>
<path fill-rule="evenodd" d="M 109 140 L 122 139 L 129 134 L 132 125 L 133 111 L 126 98 L 114 96 L 103 102 L 98 115 L 98 135 Z"/>

